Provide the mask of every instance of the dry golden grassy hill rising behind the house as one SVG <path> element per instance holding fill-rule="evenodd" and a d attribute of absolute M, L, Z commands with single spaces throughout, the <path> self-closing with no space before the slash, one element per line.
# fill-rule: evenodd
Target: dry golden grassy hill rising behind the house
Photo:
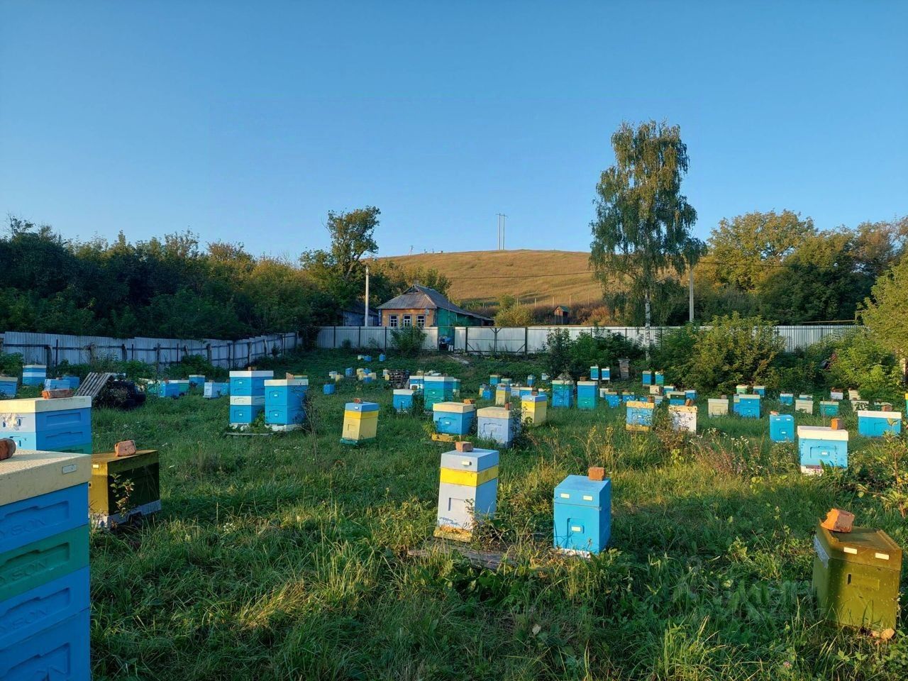
<path fill-rule="evenodd" d="M 601 289 L 587 270 L 589 253 L 577 251 L 465 251 L 380 258 L 402 267 L 434 268 L 451 280 L 456 301 L 518 296 L 532 305 L 598 301 Z"/>

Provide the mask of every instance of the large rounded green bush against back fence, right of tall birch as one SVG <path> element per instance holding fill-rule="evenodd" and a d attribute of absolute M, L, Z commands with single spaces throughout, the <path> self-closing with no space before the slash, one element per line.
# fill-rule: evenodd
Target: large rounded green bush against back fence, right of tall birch
<path fill-rule="evenodd" d="M 761 317 L 737 312 L 716 317 L 697 338 L 685 375 L 679 378 L 697 390 L 730 391 L 738 383 L 765 383 L 784 348 L 785 341 Z"/>

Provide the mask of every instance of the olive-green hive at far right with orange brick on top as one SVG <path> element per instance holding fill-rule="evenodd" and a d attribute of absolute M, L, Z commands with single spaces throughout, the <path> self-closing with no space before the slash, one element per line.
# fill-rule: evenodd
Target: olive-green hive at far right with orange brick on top
<path fill-rule="evenodd" d="M 882 529 L 832 532 L 819 525 L 814 549 L 814 591 L 824 617 L 877 634 L 894 630 L 902 549 Z"/>

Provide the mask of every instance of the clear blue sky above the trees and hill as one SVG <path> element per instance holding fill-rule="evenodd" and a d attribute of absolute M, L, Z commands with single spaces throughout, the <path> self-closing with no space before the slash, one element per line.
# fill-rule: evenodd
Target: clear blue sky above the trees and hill
<path fill-rule="evenodd" d="M 745 6 L 749 5 L 749 6 Z M 681 125 L 706 237 L 908 212 L 908 3 L 0 4 L 0 213 L 296 256 L 585 250 L 622 120 Z"/>

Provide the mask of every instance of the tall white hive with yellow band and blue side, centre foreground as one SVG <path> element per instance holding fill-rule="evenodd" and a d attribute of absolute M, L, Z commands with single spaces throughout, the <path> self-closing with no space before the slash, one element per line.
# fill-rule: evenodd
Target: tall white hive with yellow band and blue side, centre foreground
<path fill-rule="evenodd" d="M 469 541 L 473 530 L 495 516 L 498 451 L 472 449 L 441 455 L 436 537 Z"/>

